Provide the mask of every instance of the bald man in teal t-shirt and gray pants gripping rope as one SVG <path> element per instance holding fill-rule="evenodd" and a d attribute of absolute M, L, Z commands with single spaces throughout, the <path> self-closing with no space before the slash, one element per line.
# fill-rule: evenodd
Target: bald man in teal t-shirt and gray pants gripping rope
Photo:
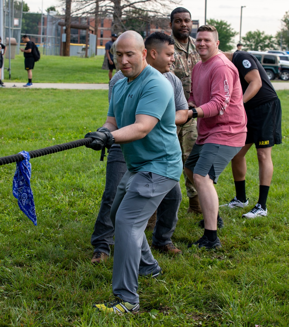
<path fill-rule="evenodd" d="M 116 42 L 117 63 L 127 79 L 114 88 L 106 123 L 86 137 L 121 145 L 128 167 L 117 187 L 110 217 L 115 228 L 113 302 L 95 304 L 106 312 L 139 310 L 138 275 L 161 274 L 144 234 L 148 219 L 182 173 L 170 82 L 145 60 L 142 37 L 127 31 Z M 107 128 L 105 131 L 104 128 Z M 110 131 L 110 132 L 109 132 Z M 101 135 L 100 135 L 101 134 Z M 99 149 L 98 141 L 88 147 Z"/>

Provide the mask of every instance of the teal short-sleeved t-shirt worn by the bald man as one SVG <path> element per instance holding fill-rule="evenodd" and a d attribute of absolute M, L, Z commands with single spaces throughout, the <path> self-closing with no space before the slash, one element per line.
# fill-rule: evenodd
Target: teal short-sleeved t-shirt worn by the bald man
<path fill-rule="evenodd" d="M 144 138 L 120 145 L 128 170 L 150 171 L 179 181 L 176 149 L 180 145 L 175 137 L 173 89 L 152 66 L 146 66 L 132 81 L 117 81 L 113 88 L 107 115 L 116 118 L 117 127 L 134 124 L 137 114 L 150 115 L 159 121 Z"/>

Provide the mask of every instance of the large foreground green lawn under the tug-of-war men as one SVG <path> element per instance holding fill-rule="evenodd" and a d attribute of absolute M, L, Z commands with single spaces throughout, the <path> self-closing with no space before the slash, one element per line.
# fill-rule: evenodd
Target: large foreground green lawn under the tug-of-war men
<path fill-rule="evenodd" d="M 0 156 L 83 138 L 101 126 L 107 91 L 2 89 Z M 173 242 L 183 255 L 153 250 L 161 280 L 139 278 L 141 311 L 96 313 L 112 297 L 111 258 L 92 266 L 90 237 L 105 184 L 105 161 L 84 146 L 31 159 L 38 226 L 12 195 L 15 163 L 0 166 L 0 326 L 288 326 L 289 325 L 289 91 L 278 92 L 283 143 L 272 151 L 268 216 L 242 219 L 245 209 L 220 208 L 220 250 L 187 249 L 202 216 L 183 201 Z M 247 196 L 258 199 L 256 150 L 247 154 Z M 228 166 L 216 185 L 220 203 L 234 196 Z M 151 232 L 146 232 L 149 243 Z"/>

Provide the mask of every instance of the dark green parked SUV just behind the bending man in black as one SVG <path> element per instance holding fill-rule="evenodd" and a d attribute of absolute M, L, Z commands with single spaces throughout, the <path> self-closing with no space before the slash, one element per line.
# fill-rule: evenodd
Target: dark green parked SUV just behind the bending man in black
<path fill-rule="evenodd" d="M 280 76 L 281 66 L 278 54 L 261 51 L 248 51 L 248 53 L 260 61 L 270 80 Z"/>

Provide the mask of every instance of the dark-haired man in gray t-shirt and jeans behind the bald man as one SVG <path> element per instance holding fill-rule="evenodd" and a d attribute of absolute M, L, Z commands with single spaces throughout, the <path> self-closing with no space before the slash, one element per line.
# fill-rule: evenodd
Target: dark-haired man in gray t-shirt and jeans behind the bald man
<path fill-rule="evenodd" d="M 164 33 L 154 32 L 145 42 L 147 49 L 146 61 L 157 69 L 172 84 L 175 100 L 175 123 L 184 124 L 188 119 L 188 103 L 183 92 L 182 82 L 178 77 L 169 72 L 174 61 L 174 40 Z M 115 83 L 124 77 L 121 71 L 117 72 L 109 83 L 108 100 L 112 95 Z M 98 264 L 106 261 L 110 253 L 109 245 L 114 244 L 114 228 L 109 217 L 110 207 L 114 200 L 117 185 L 126 172 L 126 164 L 120 150 L 120 145 L 114 144 L 110 150 L 106 165 L 106 183 L 100 210 L 95 222 L 94 232 L 91 236 L 91 244 L 94 246 L 94 253 L 91 262 Z M 179 182 L 165 196 L 157 210 L 157 221 L 153 232 L 152 248 L 160 252 L 171 254 L 182 253 L 177 249 L 171 240 L 178 220 L 177 213 L 181 203 L 182 195 Z"/>

